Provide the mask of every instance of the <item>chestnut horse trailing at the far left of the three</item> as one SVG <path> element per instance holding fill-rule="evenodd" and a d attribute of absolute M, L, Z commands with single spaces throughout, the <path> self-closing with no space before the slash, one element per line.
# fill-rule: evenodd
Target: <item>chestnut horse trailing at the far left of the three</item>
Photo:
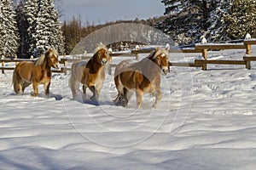
<path fill-rule="evenodd" d="M 59 56 L 55 49 L 49 48 L 35 61 L 21 61 L 13 72 L 15 94 L 23 94 L 25 88 L 32 84 L 34 94 L 38 96 L 39 84 L 44 84 L 45 95 L 49 96 L 51 67 L 60 69 Z"/>

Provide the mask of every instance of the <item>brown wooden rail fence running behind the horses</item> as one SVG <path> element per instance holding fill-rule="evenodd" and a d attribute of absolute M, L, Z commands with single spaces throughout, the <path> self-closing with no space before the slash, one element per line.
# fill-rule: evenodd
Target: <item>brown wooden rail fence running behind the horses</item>
<path fill-rule="evenodd" d="M 242 43 L 206 43 L 206 44 L 195 44 L 195 48 L 177 48 L 177 49 L 170 49 L 170 53 L 201 53 L 203 59 L 195 59 L 194 63 L 180 63 L 180 62 L 169 62 L 170 66 L 189 66 L 189 67 L 201 67 L 202 70 L 207 70 L 207 65 L 245 65 L 247 69 L 251 68 L 251 61 L 256 61 L 256 56 L 252 56 L 252 45 L 256 45 L 256 39 L 245 40 Z M 207 59 L 207 50 L 209 49 L 245 49 L 246 54 L 242 56 L 241 60 L 213 60 Z M 113 57 L 135 57 L 139 60 L 139 54 L 148 54 L 151 53 L 154 48 L 148 49 L 139 49 L 139 50 L 131 50 L 131 53 L 113 53 L 110 54 L 110 67 L 109 67 L 109 74 L 112 72 L 112 68 L 116 65 L 112 64 Z M 90 56 L 81 57 L 81 59 L 90 59 Z M 4 73 L 5 70 L 14 70 L 15 67 L 5 66 L 5 63 L 15 62 L 17 64 L 23 60 L 30 60 L 30 59 L 0 59 L 2 66 L 0 66 L 0 70 Z M 61 72 L 67 74 L 67 71 L 70 68 L 67 68 L 67 62 L 73 62 L 76 59 L 67 59 L 62 58 L 61 63 L 61 70 L 53 70 L 53 72 Z"/>

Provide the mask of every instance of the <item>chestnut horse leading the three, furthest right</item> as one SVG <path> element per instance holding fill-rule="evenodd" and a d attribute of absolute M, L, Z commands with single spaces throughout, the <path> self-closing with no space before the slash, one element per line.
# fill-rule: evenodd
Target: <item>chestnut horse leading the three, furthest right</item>
<path fill-rule="evenodd" d="M 143 94 L 152 94 L 155 97 L 153 107 L 157 107 L 162 98 L 160 89 L 160 75 L 166 75 L 169 70 L 169 53 L 166 49 L 155 48 L 148 57 L 132 63 L 123 60 L 114 71 L 114 83 L 118 90 L 113 100 L 116 105 L 126 107 L 133 92 L 136 92 L 137 108 L 143 104 Z"/>

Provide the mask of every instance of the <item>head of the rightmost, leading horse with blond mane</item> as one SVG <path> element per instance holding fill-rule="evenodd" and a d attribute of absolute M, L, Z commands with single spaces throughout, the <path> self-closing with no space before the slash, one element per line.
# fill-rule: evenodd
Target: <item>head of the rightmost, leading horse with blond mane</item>
<path fill-rule="evenodd" d="M 163 75 L 169 72 L 169 53 L 165 49 L 156 48 L 151 54 L 151 58 L 160 67 Z"/>

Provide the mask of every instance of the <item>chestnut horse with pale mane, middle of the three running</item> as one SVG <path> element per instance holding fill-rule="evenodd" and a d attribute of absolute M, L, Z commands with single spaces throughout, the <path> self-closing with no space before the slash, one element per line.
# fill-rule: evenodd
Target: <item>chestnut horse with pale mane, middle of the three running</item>
<path fill-rule="evenodd" d="M 86 97 L 86 89 L 89 88 L 93 95 L 91 100 L 97 101 L 105 81 L 105 65 L 109 59 L 108 48 L 101 45 L 96 48 L 95 53 L 89 61 L 79 61 L 73 63 L 71 67 L 71 77 L 69 79 L 69 88 L 73 99 L 78 96 L 79 85 L 83 85 L 83 99 Z"/>

